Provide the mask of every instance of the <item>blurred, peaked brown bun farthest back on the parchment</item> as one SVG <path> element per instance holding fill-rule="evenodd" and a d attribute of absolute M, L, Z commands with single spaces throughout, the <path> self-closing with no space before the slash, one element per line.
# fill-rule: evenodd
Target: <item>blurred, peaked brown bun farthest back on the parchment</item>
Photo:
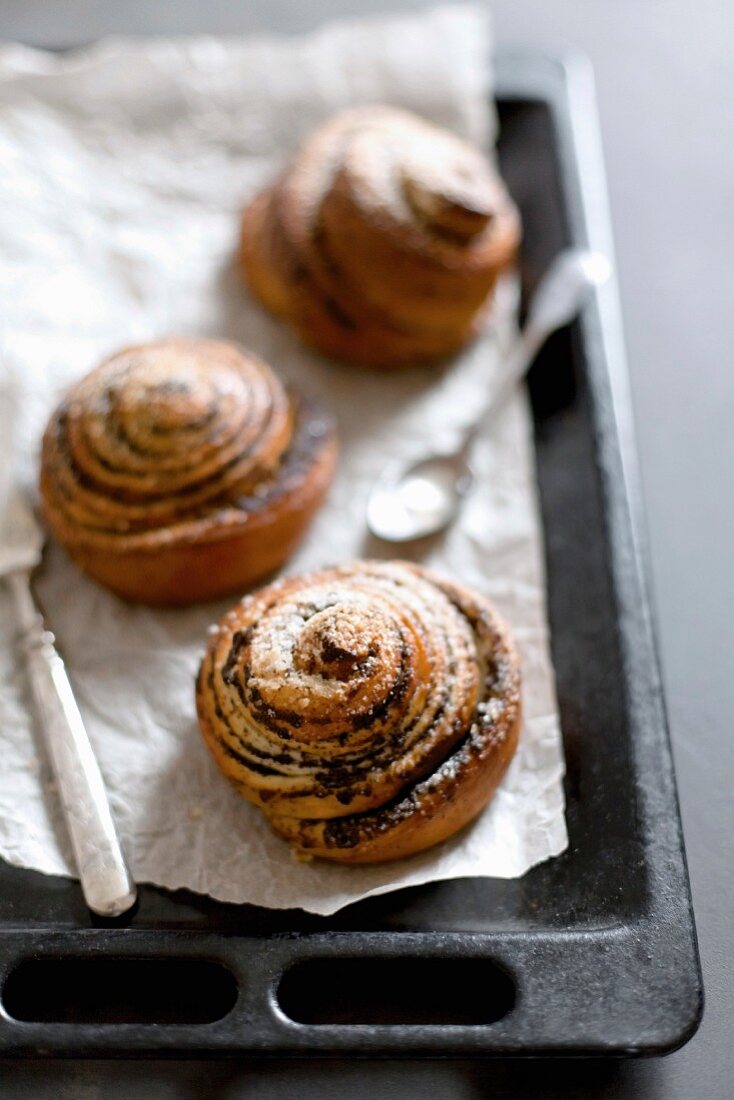
<path fill-rule="evenodd" d="M 485 319 L 519 219 L 483 154 L 390 107 L 338 114 L 244 211 L 253 294 L 335 359 L 448 355 Z"/>

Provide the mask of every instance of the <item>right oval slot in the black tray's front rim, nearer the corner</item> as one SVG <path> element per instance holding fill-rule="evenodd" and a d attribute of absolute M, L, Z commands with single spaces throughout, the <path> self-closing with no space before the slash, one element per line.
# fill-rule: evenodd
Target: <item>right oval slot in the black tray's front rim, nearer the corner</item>
<path fill-rule="evenodd" d="M 485 958 L 311 958 L 283 975 L 281 1011 L 302 1024 L 479 1025 L 512 1011 L 515 983 Z"/>

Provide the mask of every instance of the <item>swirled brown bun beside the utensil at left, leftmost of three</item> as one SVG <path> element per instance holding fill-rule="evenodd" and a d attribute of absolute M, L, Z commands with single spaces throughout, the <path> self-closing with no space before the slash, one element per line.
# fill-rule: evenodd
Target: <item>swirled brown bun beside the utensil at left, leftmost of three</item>
<path fill-rule="evenodd" d="M 48 421 L 48 526 L 90 576 L 155 605 L 242 592 L 294 550 L 336 442 L 324 411 L 217 340 L 127 348 Z"/>

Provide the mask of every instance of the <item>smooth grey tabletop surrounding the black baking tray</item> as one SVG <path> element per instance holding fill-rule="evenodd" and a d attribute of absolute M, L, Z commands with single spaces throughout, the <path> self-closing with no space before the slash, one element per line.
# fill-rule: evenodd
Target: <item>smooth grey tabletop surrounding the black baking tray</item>
<path fill-rule="evenodd" d="M 0 0 L 0 34 L 307 30 L 420 0 Z M 726 0 L 494 0 L 503 44 L 581 50 L 599 85 L 653 587 L 706 1008 L 644 1063 L 4 1063 L 7 1100 L 731 1100 L 734 1096 L 734 10 Z"/>

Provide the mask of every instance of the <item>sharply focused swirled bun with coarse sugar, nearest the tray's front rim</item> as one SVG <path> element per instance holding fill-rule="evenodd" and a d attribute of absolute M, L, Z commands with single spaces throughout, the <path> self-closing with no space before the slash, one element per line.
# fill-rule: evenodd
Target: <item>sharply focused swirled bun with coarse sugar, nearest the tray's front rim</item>
<path fill-rule="evenodd" d="M 407 562 L 354 562 L 248 596 L 197 682 L 219 767 L 306 856 L 398 859 L 492 798 L 521 673 L 482 596 Z"/>

